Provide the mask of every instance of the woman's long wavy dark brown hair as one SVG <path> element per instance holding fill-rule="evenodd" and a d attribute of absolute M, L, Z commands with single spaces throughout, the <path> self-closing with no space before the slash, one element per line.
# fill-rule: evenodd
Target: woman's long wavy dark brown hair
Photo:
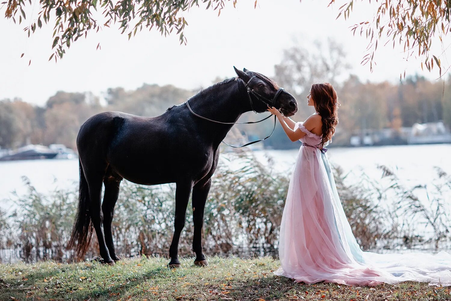
<path fill-rule="evenodd" d="M 310 93 L 315 110 L 322 119 L 322 139 L 319 146 L 323 148 L 332 139 L 338 124 L 338 96 L 330 83 L 314 83 Z"/>

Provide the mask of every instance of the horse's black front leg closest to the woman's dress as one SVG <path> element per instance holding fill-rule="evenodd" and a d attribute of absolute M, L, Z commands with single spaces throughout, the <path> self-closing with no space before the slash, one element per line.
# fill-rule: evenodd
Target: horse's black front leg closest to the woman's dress
<path fill-rule="evenodd" d="M 212 185 L 211 178 L 207 182 L 197 183 L 193 187 L 193 222 L 194 222 L 194 236 L 193 236 L 193 251 L 196 253 L 194 264 L 198 266 L 207 266 L 207 260 L 202 253 L 202 226 L 203 213 L 205 203 L 207 201 L 208 192 Z"/>

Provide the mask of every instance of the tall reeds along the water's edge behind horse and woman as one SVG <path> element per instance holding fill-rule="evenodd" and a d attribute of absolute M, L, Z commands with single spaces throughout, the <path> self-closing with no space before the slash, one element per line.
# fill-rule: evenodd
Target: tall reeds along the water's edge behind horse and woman
<path fill-rule="evenodd" d="M 228 154 L 212 177 L 202 229 L 202 246 L 208 255 L 277 255 L 279 227 L 290 175 L 275 172 L 272 163 L 261 163 L 252 152 Z M 233 165 L 233 164 L 232 164 Z M 387 167 L 381 181 L 362 177 L 346 184 L 346 175 L 335 168 L 337 190 L 354 235 L 364 250 L 377 247 L 413 247 L 426 238 L 415 227 L 423 222 L 433 229 L 435 247 L 448 241 L 451 180 L 437 169 L 437 181 L 427 189 L 426 202 L 417 194 L 423 186 L 405 187 Z M 0 211 L 0 260 L 72 260 L 65 250 L 77 207 L 77 188 L 40 194 L 25 179 L 28 192 L 15 195 L 16 209 Z M 421 200 L 420 200 L 421 199 Z M 384 206 L 382 206 L 384 204 Z M 115 208 L 113 233 L 116 253 L 166 256 L 174 229 L 175 184 L 143 186 L 121 184 Z M 192 255 L 193 209 L 189 205 L 179 254 Z M 5 252 L 8 252 L 6 254 Z M 98 254 L 97 239 L 87 257 Z"/>

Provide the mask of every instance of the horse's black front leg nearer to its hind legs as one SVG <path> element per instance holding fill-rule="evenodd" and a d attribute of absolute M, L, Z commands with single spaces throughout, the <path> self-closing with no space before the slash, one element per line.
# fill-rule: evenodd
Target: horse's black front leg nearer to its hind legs
<path fill-rule="evenodd" d="M 170 268 L 180 267 L 179 262 L 179 239 L 180 233 L 185 226 L 186 207 L 188 206 L 189 195 L 193 188 L 193 182 L 179 182 L 175 188 L 175 219 L 174 219 L 174 236 L 169 247 Z"/>

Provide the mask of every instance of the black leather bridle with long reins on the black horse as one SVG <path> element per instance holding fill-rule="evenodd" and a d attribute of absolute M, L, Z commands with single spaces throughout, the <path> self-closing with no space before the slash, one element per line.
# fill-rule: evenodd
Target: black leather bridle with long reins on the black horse
<path fill-rule="evenodd" d="M 249 88 L 249 83 L 251 83 L 251 81 L 252 81 L 255 77 L 258 77 L 259 79 L 262 79 L 261 77 L 259 77 L 259 76 L 257 76 L 257 75 L 253 75 L 253 76 L 248 80 L 247 83 L 244 82 L 243 79 L 240 79 L 240 78 L 238 78 L 238 79 L 241 80 L 241 81 L 244 83 L 244 88 L 246 88 L 246 91 L 247 91 L 247 93 L 248 93 L 249 102 L 250 102 L 250 104 L 251 104 L 252 111 L 254 111 L 255 113 L 258 113 L 258 112 L 255 111 L 254 108 L 253 108 L 253 103 L 252 103 L 252 97 L 251 97 L 251 95 L 253 95 L 255 98 L 257 98 L 259 101 L 265 103 L 265 104 L 267 105 L 267 107 L 269 107 L 269 105 L 271 105 L 271 107 L 274 107 L 274 106 L 276 105 L 277 98 L 278 98 L 279 95 L 284 91 L 284 88 L 279 88 L 279 89 L 277 90 L 277 92 L 274 94 L 274 96 L 272 97 L 272 99 L 269 100 L 268 98 L 266 98 L 266 97 L 260 95 L 260 94 L 259 94 L 257 91 L 255 91 L 254 89 Z M 265 82 L 267 82 L 266 79 L 262 79 L 262 80 L 264 80 Z M 268 83 L 268 82 L 267 82 L 267 83 Z M 248 122 L 221 122 L 221 121 L 216 121 L 216 120 L 208 119 L 207 117 L 203 117 L 203 116 L 200 116 L 200 115 L 194 113 L 193 110 L 191 109 L 191 107 L 189 107 L 188 100 L 187 100 L 185 103 L 186 103 L 186 106 L 188 107 L 189 111 L 190 111 L 191 113 L 193 113 L 193 115 L 198 116 L 199 118 L 202 118 L 202 119 L 205 119 L 205 120 L 208 120 L 208 121 L 212 121 L 212 122 L 216 122 L 216 123 L 222 123 L 222 124 L 225 124 L 225 125 L 246 124 L 246 123 L 247 123 L 247 124 L 258 123 L 258 122 L 261 122 L 261 121 L 263 121 L 263 120 L 267 120 L 269 117 L 271 117 L 271 115 L 270 115 L 270 116 L 267 116 L 267 117 L 263 118 L 262 120 L 258 120 L 258 121 L 248 121 Z M 269 108 L 271 108 L 271 107 L 269 107 Z M 221 141 L 221 142 L 222 142 L 223 144 L 226 144 L 226 145 L 232 147 L 232 148 L 242 148 L 242 147 L 245 147 L 245 146 L 248 146 L 248 145 L 251 145 L 251 144 L 260 142 L 260 141 L 263 141 L 263 140 L 265 140 L 265 139 L 268 139 L 269 137 L 272 136 L 272 133 L 274 133 L 274 130 L 275 130 L 275 129 L 276 129 L 276 115 L 274 115 L 274 127 L 272 128 L 271 134 L 269 134 L 269 136 L 267 136 L 267 137 L 265 137 L 265 138 L 263 138 L 263 139 L 255 140 L 255 141 L 249 142 L 249 143 L 244 144 L 244 145 L 241 145 L 241 146 L 233 146 L 233 145 L 227 144 L 226 142 L 224 142 L 224 140 Z"/>

